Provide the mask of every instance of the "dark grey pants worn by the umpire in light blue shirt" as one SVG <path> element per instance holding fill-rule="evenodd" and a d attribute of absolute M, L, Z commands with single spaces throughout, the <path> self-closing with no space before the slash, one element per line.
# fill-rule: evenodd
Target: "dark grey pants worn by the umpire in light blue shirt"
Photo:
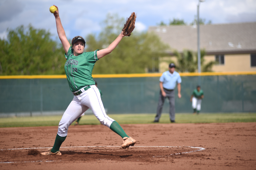
<path fill-rule="evenodd" d="M 159 119 L 161 117 L 162 108 L 164 106 L 165 98 L 168 98 L 169 104 L 170 104 L 170 110 L 169 110 L 170 120 L 175 121 L 175 93 L 174 93 L 174 90 L 167 90 L 164 88 L 164 92 L 166 93 L 166 97 L 162 96 L 162 92 L 160 90 L 155 121 L 159 121 Z"/>

